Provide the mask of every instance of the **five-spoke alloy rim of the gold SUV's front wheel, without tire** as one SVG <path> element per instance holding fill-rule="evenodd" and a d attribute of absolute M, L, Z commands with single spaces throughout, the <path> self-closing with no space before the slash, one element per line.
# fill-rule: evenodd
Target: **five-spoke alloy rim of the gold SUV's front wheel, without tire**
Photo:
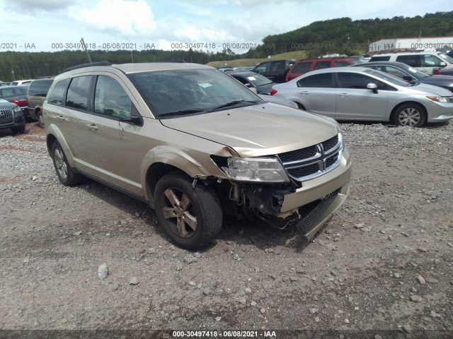
<path fill-rule="evenodd" d="M 181 238 L 190 238 L 197 230 L 197 215 L 190 198 L 183 191 L 169 188 L 162 196 L 162 213 L 168 227 Z"/>

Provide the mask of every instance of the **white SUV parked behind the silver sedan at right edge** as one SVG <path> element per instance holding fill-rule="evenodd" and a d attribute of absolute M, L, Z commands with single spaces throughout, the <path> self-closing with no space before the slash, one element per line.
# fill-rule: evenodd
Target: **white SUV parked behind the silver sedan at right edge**
<path fill-rule="evenodd" d="M 432 75 L 438 69 L 452 70 L 453 59 L 442 52 L 400 52 L 374 55 L 372 61 L 398 61 Z"/>

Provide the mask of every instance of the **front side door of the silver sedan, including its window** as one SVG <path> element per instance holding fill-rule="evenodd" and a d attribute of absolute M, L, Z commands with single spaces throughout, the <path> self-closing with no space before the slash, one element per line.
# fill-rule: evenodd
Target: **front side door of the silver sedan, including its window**
<path fill-rule="evenodd" d="M 389 95 L 387 85 L 360 73 L 338 72 L 336 115 L 338 119 L 382 120 L 386 117 Z M 377 85 L 377 93 L 367 88 Z"/>

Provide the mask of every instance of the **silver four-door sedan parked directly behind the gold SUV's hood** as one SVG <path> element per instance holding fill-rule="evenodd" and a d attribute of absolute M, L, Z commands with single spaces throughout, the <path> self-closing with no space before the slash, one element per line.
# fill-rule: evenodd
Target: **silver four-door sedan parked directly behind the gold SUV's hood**
<path fill-rule="evenodd" d="M 337 120 L 391 121 L 421 127 L 453 118 L 453 96 L 448 90 L 408 83 L 364 67 L 312 71 L 274 85 L 270 94 Z"/>

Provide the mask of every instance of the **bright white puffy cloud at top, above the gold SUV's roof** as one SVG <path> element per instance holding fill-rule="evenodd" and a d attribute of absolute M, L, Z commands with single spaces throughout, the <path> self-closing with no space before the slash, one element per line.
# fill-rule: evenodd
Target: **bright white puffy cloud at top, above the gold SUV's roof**
<path fill-rule="evenodd" d="M 154 14 L 144 0 L 101 0 L 93 8 L 73 8 L 69 16 L 120 37 L 146 37 L 156 29 Z"/>

